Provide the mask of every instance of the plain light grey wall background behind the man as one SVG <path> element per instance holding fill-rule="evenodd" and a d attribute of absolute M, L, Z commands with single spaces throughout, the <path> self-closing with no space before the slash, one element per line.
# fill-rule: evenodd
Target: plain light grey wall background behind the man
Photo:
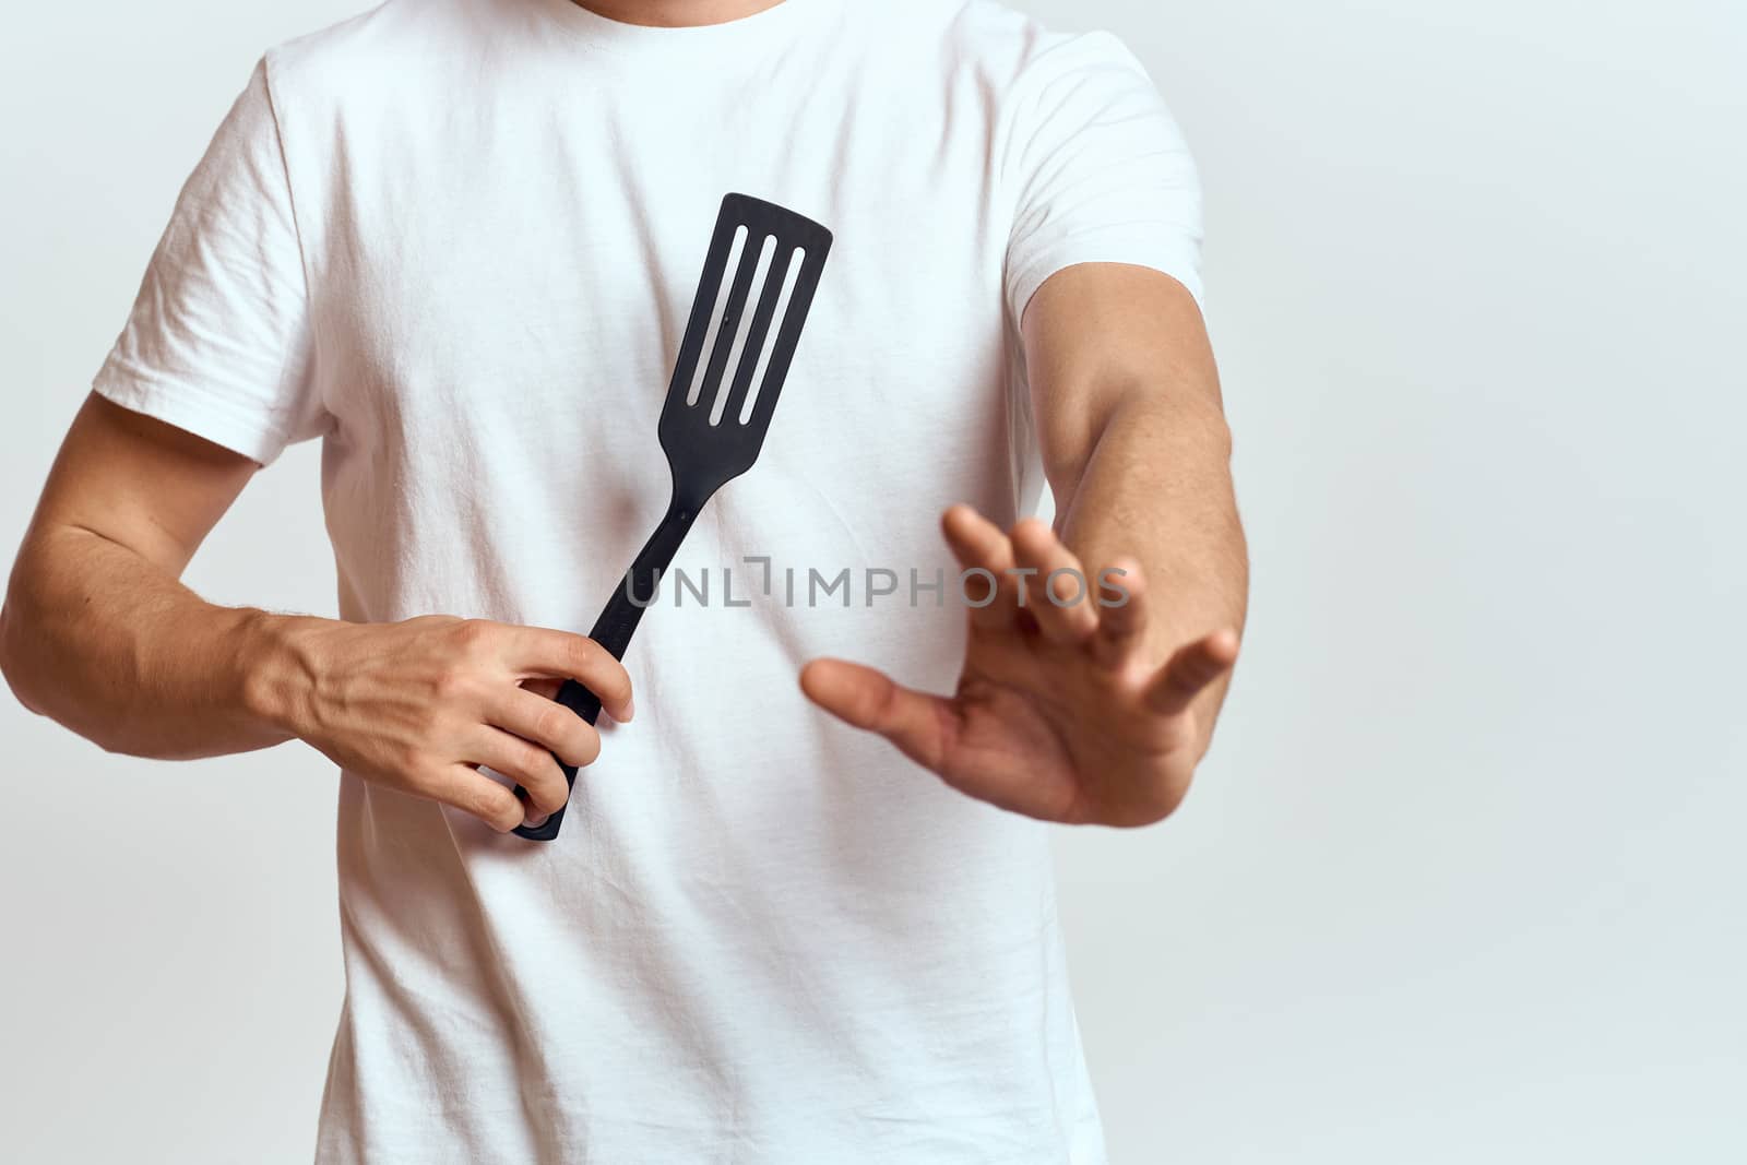
<path fill-rule="evenodd" d="M 356 7 L 9 12 L 5 557 L 250 65 Z M 1190 805 L 1060 835 L 1116 1162 L 1747 1160 L 1740 3 L 1020 7 L 1197 147 L 1256 562 Z M 314 447 L 190 578 L 334 610 Z M 0 741 L 0 1158 L 306 1160 L 327 762 Z"/>

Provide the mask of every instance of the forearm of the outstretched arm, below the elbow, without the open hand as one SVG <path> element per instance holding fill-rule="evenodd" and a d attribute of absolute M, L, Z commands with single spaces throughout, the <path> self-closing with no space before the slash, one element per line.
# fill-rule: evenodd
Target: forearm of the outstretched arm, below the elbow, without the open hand
<path fill-rule="evenodd" d="M 1094 575 L 1134 557 L 1146 575 L 1153 662 L 1221 629 L 1242 631 L 1249 592 L 1218 407 L 1137 386 L 1122 395 L 1060 498 L 1057 529 Z M 1211 732 L 1226 681 L 1198 707 Z"/>

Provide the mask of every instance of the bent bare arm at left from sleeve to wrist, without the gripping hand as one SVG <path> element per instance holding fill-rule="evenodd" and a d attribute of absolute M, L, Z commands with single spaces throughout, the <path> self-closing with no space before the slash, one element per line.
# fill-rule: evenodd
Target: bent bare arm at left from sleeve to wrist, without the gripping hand
<path fill-rule="evenodd" d="M 117 753 L 180 760 L 278 744 L 246 702 L 262 611 L 176 578 L 259 466 L 91 396 L 61 445 L 0 610 L 19 700 Z"/>

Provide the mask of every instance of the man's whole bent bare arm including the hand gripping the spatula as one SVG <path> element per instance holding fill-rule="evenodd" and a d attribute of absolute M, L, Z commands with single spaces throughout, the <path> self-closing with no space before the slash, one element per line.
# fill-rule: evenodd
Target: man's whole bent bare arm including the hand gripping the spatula
<path fill-rule="evenodd" d="M 259 466 L 91 396 L 66 435 L 0 608 L 17 699 L 105 749 L 166 760 L 309 741 L 337 763 L 498 830 L 564 803 L 550 751 L 599 753 L 543 699 L 561 678 L 631 714 L 624 669 L 583 636 L 426 617 L 360 625 L 222 608 L 178 582 Z"/>

